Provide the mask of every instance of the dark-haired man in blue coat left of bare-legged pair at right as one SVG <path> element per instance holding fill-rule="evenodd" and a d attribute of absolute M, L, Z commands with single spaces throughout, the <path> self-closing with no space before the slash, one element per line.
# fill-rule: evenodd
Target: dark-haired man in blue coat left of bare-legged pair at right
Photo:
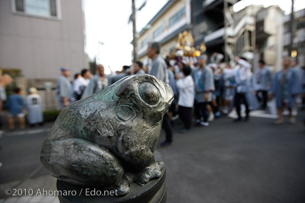
<path fill-rule="evenodd" d="M 255 71 L 251 81 L 256 97 L 260 102 L 263 102 L 262 109 L 265 110 L 268 100 L 267 91 L 270 89 L 272 82 L 272 72 L 267 69 L 264 60 L 259 61 L 259 69 Z"/>

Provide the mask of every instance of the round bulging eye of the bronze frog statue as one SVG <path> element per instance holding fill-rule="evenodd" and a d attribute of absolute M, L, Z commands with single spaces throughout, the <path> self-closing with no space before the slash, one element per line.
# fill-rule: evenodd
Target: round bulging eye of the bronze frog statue
<path fill-rule="evenodd" d="M 150 83 L 142 83 L 139 85 L 139 94 L 141 98 L 149 105 L 156 105 L 159 103 L 160 94 L 158 89 Z"/>

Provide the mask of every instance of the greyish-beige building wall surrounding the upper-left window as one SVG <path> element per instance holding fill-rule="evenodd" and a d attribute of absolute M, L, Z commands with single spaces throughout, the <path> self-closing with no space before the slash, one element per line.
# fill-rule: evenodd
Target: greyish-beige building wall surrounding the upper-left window
<path fill-rule="evenodd" d="M 81 0 L 57 0 L 58 19 L 17 15 L 14 0 L 0 1 L 0 69 L 19 69 L 26 79 L 56 79 L 87 67 Z M 72 79 L 72 77 L 71 77 Z"/>

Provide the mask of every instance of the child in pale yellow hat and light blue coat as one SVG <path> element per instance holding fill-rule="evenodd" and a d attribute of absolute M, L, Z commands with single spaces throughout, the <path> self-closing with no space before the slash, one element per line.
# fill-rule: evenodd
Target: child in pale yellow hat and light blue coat
<path fill-rule="evenodd" d="M 41 96 L 37 92 L 35 87 L 31 87 L 26 97 L 27 121 L 31 127 L 35 124 L 43 125 Z"/>

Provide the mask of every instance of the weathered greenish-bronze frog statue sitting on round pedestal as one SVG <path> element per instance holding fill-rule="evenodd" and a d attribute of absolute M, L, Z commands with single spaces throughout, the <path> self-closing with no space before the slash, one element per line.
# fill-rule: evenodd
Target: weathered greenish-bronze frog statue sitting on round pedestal
<path fill-rule="evenodd" d="M 129 192 L 159 178 L 156 162 L 171 87 L 147 74 L 125 77 L 62 110 L 43 143 L 40 160 L 59 180 Z"/>

